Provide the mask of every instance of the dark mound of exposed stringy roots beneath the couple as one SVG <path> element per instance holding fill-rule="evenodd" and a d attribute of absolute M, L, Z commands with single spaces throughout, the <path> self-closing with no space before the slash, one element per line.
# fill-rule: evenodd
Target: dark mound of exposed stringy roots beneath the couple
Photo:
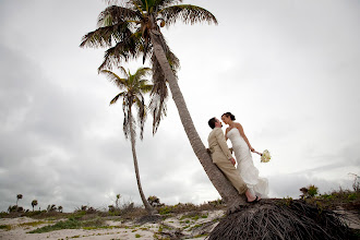
<path fill-rule="evenodd" d="M 228 214 L 207 239 L 335 240 L 356 237 L 333 211 L 300 200 L 262 200 Z"/>

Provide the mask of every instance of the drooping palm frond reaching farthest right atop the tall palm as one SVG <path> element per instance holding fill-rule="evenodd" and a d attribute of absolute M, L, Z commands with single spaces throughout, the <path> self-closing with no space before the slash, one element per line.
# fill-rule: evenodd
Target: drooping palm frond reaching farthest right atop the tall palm
<path fill-rule="evenodd" d="M 200 22 L 217 24 L 216 17 L 209 11 L 191 4 L 171 5 L 165 8 L 160 10 L 159 15 L 161 15 L 165 20 L 165 24 L 167 26 L 175 24 L 177 21 L 181 21 L 187 24 L 195 24 Z"/>

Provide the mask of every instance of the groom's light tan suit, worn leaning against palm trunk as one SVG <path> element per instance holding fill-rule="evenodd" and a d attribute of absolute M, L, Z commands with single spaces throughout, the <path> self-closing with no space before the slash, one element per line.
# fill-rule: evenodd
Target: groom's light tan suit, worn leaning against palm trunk
<path fill-rule="evenodd" d="M 232 185 L 238 190 L 239 194 L 244 193 L 248 190 L 248 187 L 240 177 L 239 171 L 230 161 L 232 155 L 226 144 L 223 130 L 220 128 L 214 128 L 208 135 L 207 142 L 213 163 L 216 164 L 216 166 L 230 180 Z"/>

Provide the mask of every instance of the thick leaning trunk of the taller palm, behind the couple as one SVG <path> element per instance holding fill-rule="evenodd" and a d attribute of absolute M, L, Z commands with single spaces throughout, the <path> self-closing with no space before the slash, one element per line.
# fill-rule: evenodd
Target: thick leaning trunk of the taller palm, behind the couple
<path fill-rule="evenodd" d="M 244 196 L 239 196 L 238 191 L 232 187 L 230 181 L 226 179 L 223 172 L 213 164 L 209 154 L 207 153 L 203 142 L 201 141 L 197 131 L 194 127 L 194 123 L 191 119 L 190 112 L 188 110 L 185 100 L 182 96 L 180 87 L 178 85 L 177 77 L 175 76 L 170 64 L 166 58 L 165 51 L 160 44 L 160 33 L 158 31 L 152 31 L 152 44 L 154 47 L 154 53 L 157 61 L 159 62 L 164 75 L 169 83 L 171 91 L 172 99 L 178 108 L 179 116 L 187 133 L 187 136 L 190 141 L 190 144 L 199 158 L 201 165 L 203 166 L 207 177 L 214 184 L 215 189 L 218 191 L 223 200 L 228 203 L 228 206 L 233 205 L 244 205 Z"/>

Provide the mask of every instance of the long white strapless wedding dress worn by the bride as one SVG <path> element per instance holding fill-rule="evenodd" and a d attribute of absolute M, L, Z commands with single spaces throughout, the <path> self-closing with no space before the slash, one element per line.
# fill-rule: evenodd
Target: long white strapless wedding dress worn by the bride
<path fill-rule="evenodd" d="M 239 130 L 237 128 L 232 128 L 227 133 L 227 137 L 231 141 L 235 157 L 238 161 L 237 169 L 243 181 L 247 183 L 249 190 L 252 191 L 253 194 L 260 195 L 261 197 L 267 197 L 267 179 L 259 177 L 259 170 L 254 166 L 249 146 L 240 135 Z"/>

